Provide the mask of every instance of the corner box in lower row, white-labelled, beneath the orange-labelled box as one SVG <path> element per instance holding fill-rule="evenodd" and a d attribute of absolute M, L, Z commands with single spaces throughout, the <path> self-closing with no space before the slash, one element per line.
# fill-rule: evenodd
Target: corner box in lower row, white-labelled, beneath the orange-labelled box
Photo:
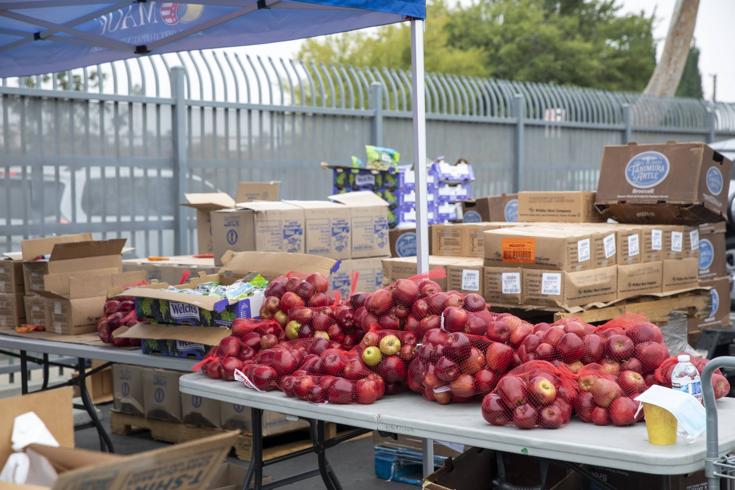
<path fill-rule="evenodd" d="M 617 299 L 617 266 L 567 273 L 523 269 L 523 304 L 584 306 Z"/>

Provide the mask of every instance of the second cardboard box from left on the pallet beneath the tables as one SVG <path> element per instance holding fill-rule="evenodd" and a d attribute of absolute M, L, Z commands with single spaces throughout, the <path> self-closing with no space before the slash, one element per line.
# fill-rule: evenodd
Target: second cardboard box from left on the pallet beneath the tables
<path fill-rule="evenodd" d="M 143 410 L 146 419 L 182 422 L 182 399 L 179 378 L 183 372 L 143 369 Z"/>

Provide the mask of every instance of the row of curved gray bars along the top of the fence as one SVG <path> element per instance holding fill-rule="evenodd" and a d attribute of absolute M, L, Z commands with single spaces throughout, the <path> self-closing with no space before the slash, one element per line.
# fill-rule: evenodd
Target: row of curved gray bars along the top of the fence
<path fill-rule="evenodd" d="M 228 53 L 232 55 L 232 49 L 196 51 L 196 56 L 186 53 L 185 57 L 165 54 L 163 62 L 154 62 L 154 57 L 140 57 L 137 63 L 113 62 L 1 82 L 4 87 L 166 97 L 170 95 L 168 71 L 172 65 L 183 65 L 187 84 L 195 85 L 194 90 L 187 87 L 193 101 L 241 101 L 242 104 L 253 101 L 280 107 L 359 110 L 370 104 L 370 84 L 378 83 L 384 94 L 383 109 L 394 115 L 412 110 L 410 98 L 406 97 L 411 93 L 410 71 L 340 64 L 329 64 L 328 68 L 322 63 L 274 61 L 270 57 L 254 57 L 254 60 L 246 57 L 248 62 L 243 64 L 237 56 L 236 62 L 231 62 Z M 637 128 L 701 131 L 713 124 L 715 131 L 735 131 L 735 103 L 445 73 L 427 73 L 426 79 L 426 109 L 430 118 L 431 115 L 455 116 L 467 121 L 514 118 L 512 98 L 520 95 L 526 118 L 552 124 L 623 125 L 623 106 L 627 104 L 631 107 L 631 124 Z"/>

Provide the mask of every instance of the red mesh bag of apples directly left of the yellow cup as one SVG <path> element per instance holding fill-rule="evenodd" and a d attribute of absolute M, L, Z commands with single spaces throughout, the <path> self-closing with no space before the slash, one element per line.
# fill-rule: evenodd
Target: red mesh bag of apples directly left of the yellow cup
<path fill-rule="evenodd" d="M 577 373 L 579 392 L 572 402 L 577 416 L 597 425 L 631 425 L 643 418 L 635 401 L 648 389 L 643 376 L 636 371 L 609 373 L 600 364 L 592 363 Z"/>

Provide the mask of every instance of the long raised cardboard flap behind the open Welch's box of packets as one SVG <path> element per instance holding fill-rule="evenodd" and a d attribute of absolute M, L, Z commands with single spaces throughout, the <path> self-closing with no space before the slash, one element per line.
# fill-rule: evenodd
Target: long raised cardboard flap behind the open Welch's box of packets
<path fill-rule="evenodd" d="M 306 253 L 226 251 L 222 256 L 222 263 L 224 265 L 219 271 L 221 274 L 231 273 L 241 277 L 257 272 L 268 281 L 273 281 L 279 275 L 292 270 L 329 276 L 337 261 Z"/>

